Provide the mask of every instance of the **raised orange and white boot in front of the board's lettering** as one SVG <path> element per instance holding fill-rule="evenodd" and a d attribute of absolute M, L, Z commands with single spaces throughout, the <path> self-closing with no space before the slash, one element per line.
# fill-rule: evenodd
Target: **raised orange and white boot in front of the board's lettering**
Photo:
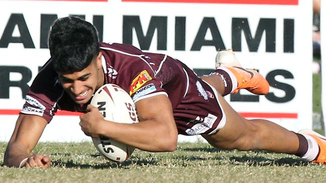
<path fill-rule="evenodd" d="M 232 49 L 219 51 L 216 55 L 215 68 L 224 66 L 236 77 L 238 86 L 232 93 L 239 89 L 247 89 L 254 94 L 267 94 L 269 91 L 268 81 L 255 69 L 245 69 L 235 57 Z"/>

